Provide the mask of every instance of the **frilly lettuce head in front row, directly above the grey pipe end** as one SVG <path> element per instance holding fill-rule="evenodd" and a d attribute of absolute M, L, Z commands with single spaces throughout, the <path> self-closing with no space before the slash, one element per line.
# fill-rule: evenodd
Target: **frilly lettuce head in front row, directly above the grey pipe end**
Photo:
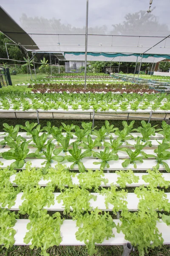
<path fill-rule="evenodd" d="M 120 218 L 121 224 L 117 225 L 117 232 L 122 231 L 125 239 L 130 241 L 133 246 L 137 246 L 139 256 L 144 256 L 144 250 L 148 253 L 148 248 L 161 246 L 164 239 L 161 237 L 156 221 L 158 220 L 157 213 L 150 214 L 149 212 L 124 212 Z M 146 232 L 147 231 L 147 232 Z M 150 244 L 153 242 L 153 244 Z"/>

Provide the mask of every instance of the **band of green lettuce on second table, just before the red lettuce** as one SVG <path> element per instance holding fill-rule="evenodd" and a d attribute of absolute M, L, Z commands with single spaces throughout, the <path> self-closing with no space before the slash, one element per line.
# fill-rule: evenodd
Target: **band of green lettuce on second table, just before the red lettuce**
<path fill-rule="evenodd" d="M 31 93 L 1 92 L 2 110 L 170 110 L 170 95 L 167 93 Z"/>

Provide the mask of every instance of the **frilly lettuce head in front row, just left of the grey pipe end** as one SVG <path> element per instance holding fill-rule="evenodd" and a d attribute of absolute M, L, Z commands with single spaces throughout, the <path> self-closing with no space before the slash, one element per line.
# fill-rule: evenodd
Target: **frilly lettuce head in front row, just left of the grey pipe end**
<path fill-rule="evenodd" d="M 85 215 L 80 215 L 77 219 L 76 238 L 79 241 L 84 241 L 88 248 L 88 254 L 97 253 L 95 243 L 101 244 L 104 239 L 114 237 L 112 228 L 116 227 L 109 213 L 102 212 L 95 208 L 94 211 L 88 212 Z"/>

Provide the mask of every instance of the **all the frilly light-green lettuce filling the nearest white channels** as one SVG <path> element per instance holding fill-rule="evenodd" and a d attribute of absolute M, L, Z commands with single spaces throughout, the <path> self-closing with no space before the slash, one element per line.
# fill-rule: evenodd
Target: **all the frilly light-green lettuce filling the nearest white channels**
<path fill-rule="evenodd" d="M 19 205 L 18 212 L 0 209 L 0 244 L 6 248 L 14 244 L 15 234 L 21 231 L 16 231 L 14 225 L 18 218 L 25 216 L 24 218 L 29 219 L 28 232 L 20 239 L 26 244 L 31 242 L 31 249 L 40 247 L 41 255 L 49 256 L 46 250 L 62 242 L 60 228 L 64 219 L 69 218 L 76 221 L 76 239 L 84 241 L 89 255 L 97 253 L 95 243 L 102 244 L 104 239 L 114 237 L 115 232 L 122 231 L 127 241 L 133 246 L 138 246 L 139 255 L 144 256 L 150 247 L 163 244 L 164 239 L 157 227 L 160 219 L 170 225 L 170 202 L 164 192 L 164 189 L 170 187 L 170 182 L 165 180 L 156 168 L 147 172 L 148 174 L 142 176 L 148 183 L 147 187 L 139 186 L 134 189 L 139 198 L 138 210 L 129 212 L 125 186 L 139 180 L 138 175 L 131 170 L 117 172 L 117 184 L 120 186 L 120 189 L 117 189 L 113 184 L 104 188 L 108 180 L 104 178 L 102 170 L 89 170 L 78 174 L 78 186 L 72 182 L 72 177 L 76 174 L 61 164 L 55 169 L 49 168 L 45 175 L 43 169 L 31 168 L 30 163 L 26 164 L 26 170 L 17 173 L 14 169 L 0 169 L 1 207 L 9 209 L 14 206 L 18 193 L 23 192 L 23 202 Z M 14 175 L 15 179 L 11 183 L 10 178 Z M 42 178 L 48 181 L 45 187 L 38 184 Z M 54 194 L 55 189 L 61 191 L 57 197 Z M 110 210 L 109 212 L 91 206 L 90 201 L 96 201 L 96 195 L 91 194 L 89 190 L 104 196 L 105 207 Z M 62 201 L 64 218 L 59 212 L 51 215 L 43 209 L 45 206 L 49 208 L 54 205 L 55 201 Z M 116 224 L 114 218 L 119 211 L 120 222 Z"/>

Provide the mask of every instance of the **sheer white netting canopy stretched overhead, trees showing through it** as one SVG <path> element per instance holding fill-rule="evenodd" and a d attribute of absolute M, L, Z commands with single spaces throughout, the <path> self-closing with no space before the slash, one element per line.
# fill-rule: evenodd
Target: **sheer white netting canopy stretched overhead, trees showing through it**
<path fill-rule="evenodd" d="M 147 13 L 149 2 L 89 0 L 88 52 L 170 55 L 170 0 L 153 0 Z M 86 0 L 1 0 L 1 6 L 23 32 L 8 28 L 7 20 L 0 30 L 21 45 L 29 35 L 27 50 L 85 52 Z"/>

